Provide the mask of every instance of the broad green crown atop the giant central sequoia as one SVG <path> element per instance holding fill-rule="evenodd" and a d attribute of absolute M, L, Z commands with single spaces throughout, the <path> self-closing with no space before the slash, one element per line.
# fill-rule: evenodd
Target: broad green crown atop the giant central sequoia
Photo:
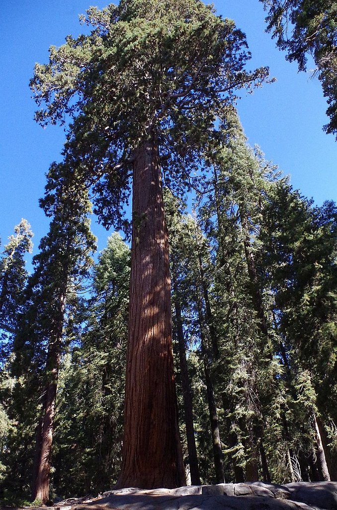
<path fill-rule="evenodd" d="M 70 117 L 66 159 L 93 186 L 103 223 L 128 230 L 123 206 L 139 143 L 155 133 L 168 155 L 167 184 L 188 189 L 217 117 L 238 89 L 265 81 L 268 69 L 247 72 L 244 34 L 199 0 L 128 0 L 91 8 L 82 21 L 94 28 L 90 35 L 68 36 L 50 48 L 48 64 L 35 67 L 31 88 L 46 105 L 36 120 Z"/>

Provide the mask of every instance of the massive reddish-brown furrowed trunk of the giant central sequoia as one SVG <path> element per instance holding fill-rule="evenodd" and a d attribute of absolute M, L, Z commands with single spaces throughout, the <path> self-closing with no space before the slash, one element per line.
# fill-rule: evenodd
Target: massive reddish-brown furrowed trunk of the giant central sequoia
<path fill-rule="evenodd" d="M 178 428 L 171 281 L 154 138 L 134 154 L 123 462 L 118 488 L 185 484 Z"/>

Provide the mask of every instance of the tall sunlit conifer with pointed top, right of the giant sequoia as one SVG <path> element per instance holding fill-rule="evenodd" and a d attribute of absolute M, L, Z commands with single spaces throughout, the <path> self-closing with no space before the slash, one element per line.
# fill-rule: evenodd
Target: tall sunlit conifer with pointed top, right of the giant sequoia
<path fill-rule="evenodd" d="M 264 480 L 270 481 L 266 429 L 278 428 L 279 438 L 278 368 L 257 254 L 261 211 L 274 176 L 258 152 L 247 146 L 234 110 L 219 127 L 206 156 L 212 177 L 200 212 L 215 249 L 212 292 L 217 296 L 214 302 L 221 303 L 215 311 L 222 318 L 217 321 L 218 337 L 226 338 L 220 348 L 222 366 L 231 367 L 221 374 L 228 388 L 222 394 L 223 407 L 231 417 L 226 418 L 228 450 L 235 452 L 238 479 L 244 451 L 246 479 L 259 479 L 261 464 Z"/>

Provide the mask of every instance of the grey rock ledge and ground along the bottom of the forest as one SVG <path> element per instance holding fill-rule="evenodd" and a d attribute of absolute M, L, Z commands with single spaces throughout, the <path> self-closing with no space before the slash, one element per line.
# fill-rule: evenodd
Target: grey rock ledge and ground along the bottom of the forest
<path fill-rule="evenodd" d="M 122 489 L 70 498 L 54 510 L 337 510 L 337 482 L 221 483 L 179 489 Z M 32 508 L 32 507 L 31 507 Z M 46 510 L 35 507 L 34 510 Z M 19 509 L 16 509 L 19 510 Z M 21 510 L 21 509 L 20 509 Z"/>

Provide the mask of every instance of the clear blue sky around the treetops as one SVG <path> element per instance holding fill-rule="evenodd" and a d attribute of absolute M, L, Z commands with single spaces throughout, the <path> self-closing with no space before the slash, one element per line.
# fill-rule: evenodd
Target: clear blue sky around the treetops
<path fill-rule="evenodd" d="M 337 143 L 326 135 L 326 103 L 320 82 L 310 73 L 297 73 L 295 63 L 285 60 L 265 34 L 265 13 L 258 0 L 215 0 L 217 12 L 232 18 L 246 33 L 252 59 L 249 68 L 270 67 L 277 82 L 244 96 L 238 111 L 251 145 L 258 144 L 285 173 L 295 188 L 313 196 L 320 205 L 337 200 Z M 48 220 L 38 207 L 43 195 L 45 172 L 60 160 L 65 134 L 62 127 L 42 129 L 33 120 L 36 105 L 29 80 L 35 62 L 46 63 L 48 47 L 64 43 L 84 28 L 78 14 L 90 0 L 2 0 L 0 11 L 0 237 L 2 245 L 14 225 L 26 218 L 35 233 L 36 253 Z M 102 8 L 106 4 L 98 3 Z M 93 221 L 95 221 L 93 219 Z M 99 249 L 107 234 L 93 225 Z"/>

